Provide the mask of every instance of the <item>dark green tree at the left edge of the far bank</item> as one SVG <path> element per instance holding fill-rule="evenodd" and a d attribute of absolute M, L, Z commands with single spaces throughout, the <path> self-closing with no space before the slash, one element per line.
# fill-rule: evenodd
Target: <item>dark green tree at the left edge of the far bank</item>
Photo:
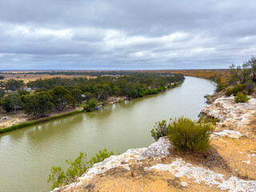
<path fill-rule="evenodd" d="M 1 105 L 6 112 L 16 113 L 16 110 L 22 108 L 22 100 L 18 94 L 9 94 L 2 99 Z"/>

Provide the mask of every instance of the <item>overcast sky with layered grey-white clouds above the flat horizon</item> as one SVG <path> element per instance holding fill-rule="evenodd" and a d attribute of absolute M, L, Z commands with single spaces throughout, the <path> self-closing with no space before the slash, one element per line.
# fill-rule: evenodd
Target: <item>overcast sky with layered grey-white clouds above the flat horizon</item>
<path fill-rule="evenodd" d="M 256 55 L 255 0 L 0 0 L 0 70 L 213 69 Z"/>

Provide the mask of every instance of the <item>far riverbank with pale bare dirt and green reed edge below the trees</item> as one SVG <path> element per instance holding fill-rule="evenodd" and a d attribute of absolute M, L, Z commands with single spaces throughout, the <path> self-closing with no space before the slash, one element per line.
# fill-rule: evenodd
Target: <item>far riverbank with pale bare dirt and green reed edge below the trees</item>
<path fill-rule="evenodd" d="M 173 89 L 175 87 L 177 87 L 178 85 L 182 84 L 182 82 L 175 82 L 172 83 L 169 87 L 166 87 L 166 89 Z M 174 86 L 173 86 L 174 85 Z M 158 91 L 156 94 L 161 93 L 164 90 Z M 147 94 L 146 96 L 148 96 L 150 94 Z M 143 96 L 143 97 L 146 97 Z M 126 98 L 126 97 L 114 97 L 111 96 L 109 98 L 106 99 L 106 102 L 98 102 L 98 106 L 102 107 L 102 106 L 106 106 L 106 105 L 112 105 L 115 102 L 122 102 L 125 101 L 127 99 L 131 99 L 131 98 Z M 31 118 L 30 116 L 23 114 L 21 110 L 18 110 L 16 112 L 16 114 L 12 114 L 12 113 L 2 113 L 0 114 L 0 118 L 7 118 L 2 120 L 0 123 L 0 134 L 4 134 L 7 132 L 10 132 L 12 130 L 18 130 L 18 129 L 22 129 L 28 126 L 34 126 L 37 125 L 39 123 L 42 122 L 49 122 L 51 120 L 55 120 L 58 118 L 64 118 L 73 114 L 79 114 L 82 113 L 82 107 L 75 107 L 75 108 L 71 108 L 71 107 L 67 107 L 62 111 L 58 111 L 58 110 L 54 110 L 53 113 L 48 114 L 48 116 L 44 117 L 44 118 L 38 118 L 38 119 L 34 119 Z"/>

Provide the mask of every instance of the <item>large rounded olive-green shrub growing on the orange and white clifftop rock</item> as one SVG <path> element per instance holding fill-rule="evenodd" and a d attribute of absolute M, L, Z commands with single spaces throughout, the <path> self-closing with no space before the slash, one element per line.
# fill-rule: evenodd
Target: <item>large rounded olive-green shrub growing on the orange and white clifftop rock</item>
<path fill-rule="evenodd" d="M 211 123 L 194 122 L 189 118 L 175 118 L 170 123 L 168 138 L 176 150 L 205 152 L 210 149 Z"/>

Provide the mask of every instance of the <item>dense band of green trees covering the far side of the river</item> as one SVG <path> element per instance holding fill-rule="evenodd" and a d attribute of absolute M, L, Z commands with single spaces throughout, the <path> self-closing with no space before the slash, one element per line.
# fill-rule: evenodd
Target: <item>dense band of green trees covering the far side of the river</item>
<path fill-rule="evenodd" d="M 23 110 L 25 114 L 40 118 L 54 109 L 61 111 L 67 106 L 79 106 L 82 102 L 85 102 L 88 109 L 89 106 L 94 107 L 98 101 L 106 102 L 110 96 L 138 98 L 156 94 L 183 80 L 182 74 L 138 72 L 126 72 L 126 75 L 120 77 L 38 79 L 26 84 L 22 80 L 9 79 L 1 82 L 0 105 L 6 112 Z M 34 90 L 34 94 L 23 90 L 25 86 Z"/>

